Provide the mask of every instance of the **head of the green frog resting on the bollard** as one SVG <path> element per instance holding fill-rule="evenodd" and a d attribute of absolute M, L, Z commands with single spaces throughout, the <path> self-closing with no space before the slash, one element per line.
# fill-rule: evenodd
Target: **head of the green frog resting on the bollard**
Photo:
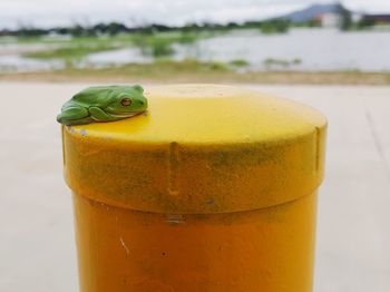
<path fill-rule="evenodd" d="M 118 86 L 111 95 L 105 111 L 113 116 L 130 117 L 147 109 L 144 88 L 139 85 Z"/>

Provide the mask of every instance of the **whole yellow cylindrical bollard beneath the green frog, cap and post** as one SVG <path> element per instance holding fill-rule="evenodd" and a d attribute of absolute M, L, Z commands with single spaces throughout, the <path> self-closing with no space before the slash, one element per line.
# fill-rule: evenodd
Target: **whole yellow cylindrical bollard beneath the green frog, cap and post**
<path fill-rule="evenodd" d="M 64 127 L 81 292 L 312 291 L 326 123 L 237 87 L 149 87 Z"/>

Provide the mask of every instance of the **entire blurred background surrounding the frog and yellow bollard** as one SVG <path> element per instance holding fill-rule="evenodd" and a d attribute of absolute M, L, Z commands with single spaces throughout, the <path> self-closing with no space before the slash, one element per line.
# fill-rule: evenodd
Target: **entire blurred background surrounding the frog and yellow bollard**
<path fill-rule="evenodd" d="M 77 291 L 61 105 L 234 84 L 329 119 L 314 291 L 390 291 L 389 0 L 1 0 L 0 291 Z"/>

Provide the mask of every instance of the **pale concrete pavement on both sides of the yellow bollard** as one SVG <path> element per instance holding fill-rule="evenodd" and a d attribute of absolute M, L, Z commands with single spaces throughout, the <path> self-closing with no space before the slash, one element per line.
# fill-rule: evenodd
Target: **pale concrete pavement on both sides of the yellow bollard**
<path fill-rule="evenodd" d="M 77 291 L 56 114 L 81 84 L 0 82 L 0 291 Z M 390 291 L 390 87 L 252 86 L 329 118 L 316 292 Z"/>

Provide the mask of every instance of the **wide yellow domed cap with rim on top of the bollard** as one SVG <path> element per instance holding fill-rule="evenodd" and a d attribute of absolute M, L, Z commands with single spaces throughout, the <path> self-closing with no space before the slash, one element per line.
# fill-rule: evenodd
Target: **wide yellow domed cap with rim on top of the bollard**
<path fill-rule="evenodd" d="M 325 118 L 241 87 L 145 88 L 146 114 L 62 127 L 65 176 L 91 199 L 159 213 L 226 213 L 313 193 Z"/>

